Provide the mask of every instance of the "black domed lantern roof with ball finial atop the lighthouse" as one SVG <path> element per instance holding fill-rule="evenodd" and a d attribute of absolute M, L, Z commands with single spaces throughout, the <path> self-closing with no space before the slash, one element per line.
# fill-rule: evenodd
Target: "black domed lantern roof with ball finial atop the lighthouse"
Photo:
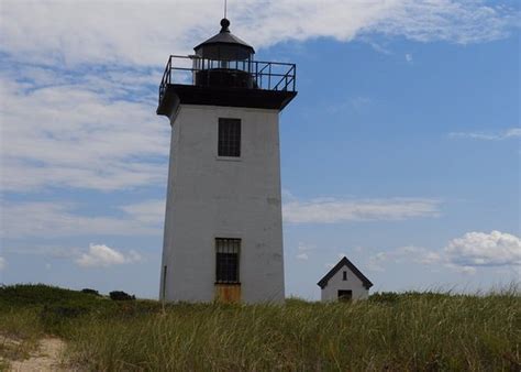
<path fill-rule="evenodd" d="M 230 21 L 223 18 L 221 20 L 221 31 L 206 42 L 197 45 L 193 48 L 196 55 L 207 59 L 251 59 L 252 55 L 255 54 L 252 45 L 232 34 L 229 28 Z"/>

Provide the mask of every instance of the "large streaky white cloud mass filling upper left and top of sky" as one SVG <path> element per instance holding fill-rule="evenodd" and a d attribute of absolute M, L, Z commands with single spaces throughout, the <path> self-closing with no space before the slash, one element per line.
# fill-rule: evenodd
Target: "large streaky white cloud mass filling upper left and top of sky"
<path fill-rule="evenodd" d="M 370 42 L 374 34 L 467 44 L 519 26 L 517 9 L 476 0 L 229 6 L 232 31 L 257 50 L 317 37 Z M 163 66 L 168 54 L 191 53 L 214 34 L 221 8 L 210 0 L 3 1 L 2 188 L 164 185 L 169 127 L 154 114 Z"/>

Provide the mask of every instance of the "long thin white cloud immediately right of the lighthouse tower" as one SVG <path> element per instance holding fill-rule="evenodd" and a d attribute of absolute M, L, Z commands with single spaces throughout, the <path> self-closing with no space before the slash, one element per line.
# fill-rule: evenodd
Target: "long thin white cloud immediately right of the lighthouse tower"
<path fill-rule="evenodd" d="M 282 205 L 282 216 L 291 223 L 403 220 L 437 217 L 439 206 L 439 200 L 425 198 L 290 200 Z"/>

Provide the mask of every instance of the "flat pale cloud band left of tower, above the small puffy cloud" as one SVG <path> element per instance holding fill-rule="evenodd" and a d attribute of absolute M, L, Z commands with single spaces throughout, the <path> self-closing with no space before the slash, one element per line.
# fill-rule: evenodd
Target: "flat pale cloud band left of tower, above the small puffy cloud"
<path fill-rule="evenodd" d="M 147 203 L 149 207 L 146 207 Z M 138 207 L 120 207 L 123 212 L 119 216 L 85 216 L 78 211 L 79 205 L 67 203 L 4 203 L 1 236 L 9 239 L 92 234 L 160 236 L 164 218 L 162 205 L 164 201 L 148 200 L 140 203 Z M 157 208 L 155 215 L 152 211 L 154 208 Z M 130 212 L 125 212 L 125 209 Z M 140 209 L 148 211 L 141 215 Z"/>

